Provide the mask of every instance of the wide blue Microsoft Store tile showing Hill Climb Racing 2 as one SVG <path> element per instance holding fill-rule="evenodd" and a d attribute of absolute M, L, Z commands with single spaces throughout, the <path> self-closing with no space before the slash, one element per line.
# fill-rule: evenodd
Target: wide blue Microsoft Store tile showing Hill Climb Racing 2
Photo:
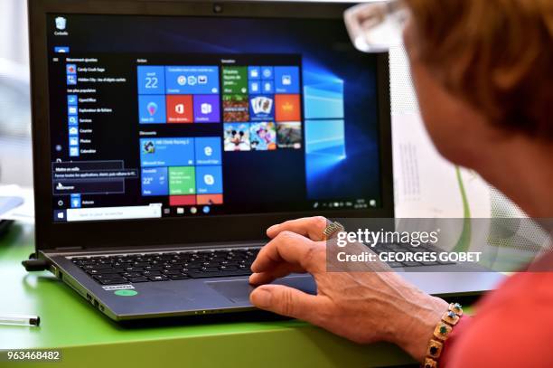
<path fill-rule="evenodd" d="M 140 139 L 140 165 L 189 166 L 194 165 L 194 138 Z"/>

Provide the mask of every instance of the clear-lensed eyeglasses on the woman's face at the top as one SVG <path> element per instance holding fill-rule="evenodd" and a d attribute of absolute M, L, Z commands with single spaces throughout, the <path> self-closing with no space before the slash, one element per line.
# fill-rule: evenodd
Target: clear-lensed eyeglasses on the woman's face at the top
<path fill-rule="evenodd" d="M 408 8 L 401 0 L 355 5 L 344 14 L 351 42 L 361 52 L 388 52 L 401 44 Z"/>

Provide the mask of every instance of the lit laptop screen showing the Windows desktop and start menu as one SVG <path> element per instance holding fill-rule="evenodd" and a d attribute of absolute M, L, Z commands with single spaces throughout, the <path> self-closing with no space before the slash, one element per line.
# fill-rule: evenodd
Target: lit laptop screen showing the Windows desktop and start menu
<path fill-rule="evenodd" d="M 381 207 L 341 20 L 48 14 L 52 221 Z"/>

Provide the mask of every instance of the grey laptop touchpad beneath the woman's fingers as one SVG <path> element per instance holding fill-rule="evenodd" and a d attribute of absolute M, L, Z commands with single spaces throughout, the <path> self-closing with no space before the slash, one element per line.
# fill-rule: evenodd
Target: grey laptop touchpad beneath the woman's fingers
<path fill-rule="evenodd" d="M 279 278 L 274 282 L 279 285 L 286 285 L 291 288 L 297 288 L 308 294 L 316 294 L 317 288 L 314 279 L 311 276 L 290 276 Z M 206 284 L 227 297 L 233 303 L 244 303 L 249 301 L 249 293 L 254 289 L 248 283 L 248 279 L 238 279 L 232 281 L 206 281 Z"/>

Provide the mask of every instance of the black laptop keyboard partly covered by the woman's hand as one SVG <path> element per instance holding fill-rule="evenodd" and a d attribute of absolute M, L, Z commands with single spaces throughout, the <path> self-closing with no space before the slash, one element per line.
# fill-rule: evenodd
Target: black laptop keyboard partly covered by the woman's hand
<path fill-rule="evenodd" d="M 73 257 L 71 261 L 101 285 L 170 281 L 187 278 L 222 278 L 251 275 L 251 264 L 261 248 L 233 250 L 172 251 Z M 398 244 L 380 244 L 382 252 L 436 251 L 428 246 L 417 249 Z M 392 268 L 436 266 L 453 262 L 389 262 Z"/>

